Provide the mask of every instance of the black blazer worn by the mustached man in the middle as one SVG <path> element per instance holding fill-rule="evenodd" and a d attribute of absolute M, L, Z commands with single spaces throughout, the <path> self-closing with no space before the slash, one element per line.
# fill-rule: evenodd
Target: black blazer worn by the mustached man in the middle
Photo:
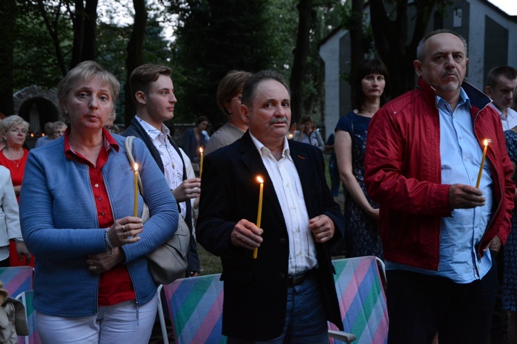
<path fill-rule="evenodd" d="M 290 141 L 289 147 L 309 218 L 325 214 L 335 224 L 334 238 L 316 243 L 316 255 L 327 319 L 341 328 L 330 247 L 343 237 L 343 215 L 327 186 L 321 151 L 301 142 Z M 264 180 L 264 233 L 258 257 L 252 259 L 252 251 L 234 246 L 230 234 L 241 219 L 256 223 L 257 175 Z M 196 237 L 223 263 L 223 334 L 254 341 L 275 338 L 285 322 L 289 236 L 274 186 L 249 131 L 233 144 L 206 155 L 201 183 Z"/>

